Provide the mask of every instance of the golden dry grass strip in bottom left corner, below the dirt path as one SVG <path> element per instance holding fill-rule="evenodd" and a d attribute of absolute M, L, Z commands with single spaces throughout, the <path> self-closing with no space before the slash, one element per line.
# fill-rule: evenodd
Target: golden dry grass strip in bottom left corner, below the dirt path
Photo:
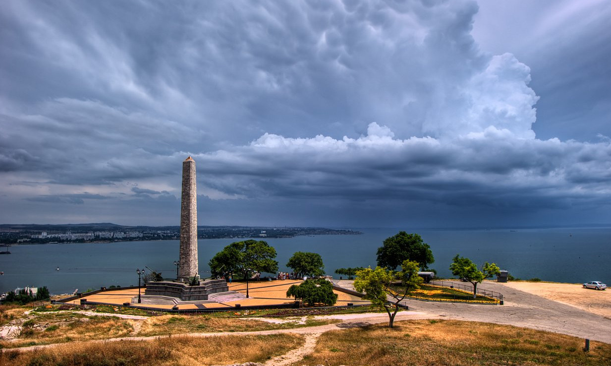
<path fill-rule="evenodd" d="M 172 337 L 152 341 L 70 343 L 53 349 L 19 352 L 3 350 L 1 365 L 115 366 L 213 365 L 265 362 L 303 344 L 301 335 Z"/>

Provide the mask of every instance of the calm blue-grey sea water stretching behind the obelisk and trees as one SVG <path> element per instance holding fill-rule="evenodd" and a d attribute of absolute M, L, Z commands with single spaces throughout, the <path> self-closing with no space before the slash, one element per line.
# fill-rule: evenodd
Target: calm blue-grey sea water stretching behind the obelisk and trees
<path fill-rule="evenodd" d="M 323 257 L 327 274 L 335 269 L 375 266 L 376 250 L 399 229 L 357 229 L 362 235 L 298 236 L 267 239 L 276 248 L 280 271 L 294 252 L 315 252 Z M 450 277 L 452 257 L 460 254 L 475 263 L 488 261 L 515 277 L 556 282 L 611 282 L 611 228 L 530 230 L 433 230 L 414 229 L 431 246 L 439 276 Z M 208 260 L 232 243 L 230 239 L 199 241 L 200 276 Z M 130 241 L 104 244 L 21 245 L 0 255 L 0 291 L 46 285 L 51 293 L 70 293 L 76 288 L 137 285 L 136 268 L 148 266 L 174 278 L 178 241 Z M 56 268 L 59 267 L 59 271 Z"/>

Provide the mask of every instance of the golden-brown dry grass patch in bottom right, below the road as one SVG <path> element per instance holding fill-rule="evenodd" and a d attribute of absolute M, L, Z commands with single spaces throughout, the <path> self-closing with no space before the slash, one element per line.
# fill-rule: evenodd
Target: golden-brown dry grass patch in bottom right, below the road
<path fill-rule="evenodd" d="M 295 365 L 611 365 L 611 345 L 467 321 L 401 321 L 395 328 L 331 331 Z"/>

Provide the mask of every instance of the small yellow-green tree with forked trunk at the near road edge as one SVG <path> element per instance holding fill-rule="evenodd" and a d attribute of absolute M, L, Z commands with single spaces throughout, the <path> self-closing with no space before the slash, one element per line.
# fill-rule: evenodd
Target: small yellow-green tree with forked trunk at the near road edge
<path fill-rule="evenodd" d="M 359 292 L 364 292 L 365 300 L 371 301 L 371 304 L 384 307 L 389 317 L 389 327 L 393 327 L 395 315 L 399 311 L 399 303 L 403 301 L 409 291 L 420 288 L 422 277 L 418 276 L 418 263 L 410 260 L 404 260 L 401 265 L 401 271 L 395 272 L 380 266 L 376 269 L 365 268 L 357 271 L 356 280 L 354 280 L 354 289 Z M 392 290 L 391 284 L 396 279 L 401 280 L 401 284 L 405 287 L 403 294 Z M 394 302 L 388 300 L 388 296 L 394 299 Z M 393 308 L 393 312 L 390 310 Z"/>

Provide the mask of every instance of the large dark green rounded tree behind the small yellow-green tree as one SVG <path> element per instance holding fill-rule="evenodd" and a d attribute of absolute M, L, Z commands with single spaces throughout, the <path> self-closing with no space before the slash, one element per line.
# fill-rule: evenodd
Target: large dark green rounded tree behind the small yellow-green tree
<path fill-rule="evenodd" d="M 404 260 L 420 263 L 420 269 L 428 269 L 430 263 L 435 262 L 431 247 L 422 241 L 418 234 L 399 232 L 395 236 L 386 238 L 378 248 L 378 266 L 396 269 Z"/>

